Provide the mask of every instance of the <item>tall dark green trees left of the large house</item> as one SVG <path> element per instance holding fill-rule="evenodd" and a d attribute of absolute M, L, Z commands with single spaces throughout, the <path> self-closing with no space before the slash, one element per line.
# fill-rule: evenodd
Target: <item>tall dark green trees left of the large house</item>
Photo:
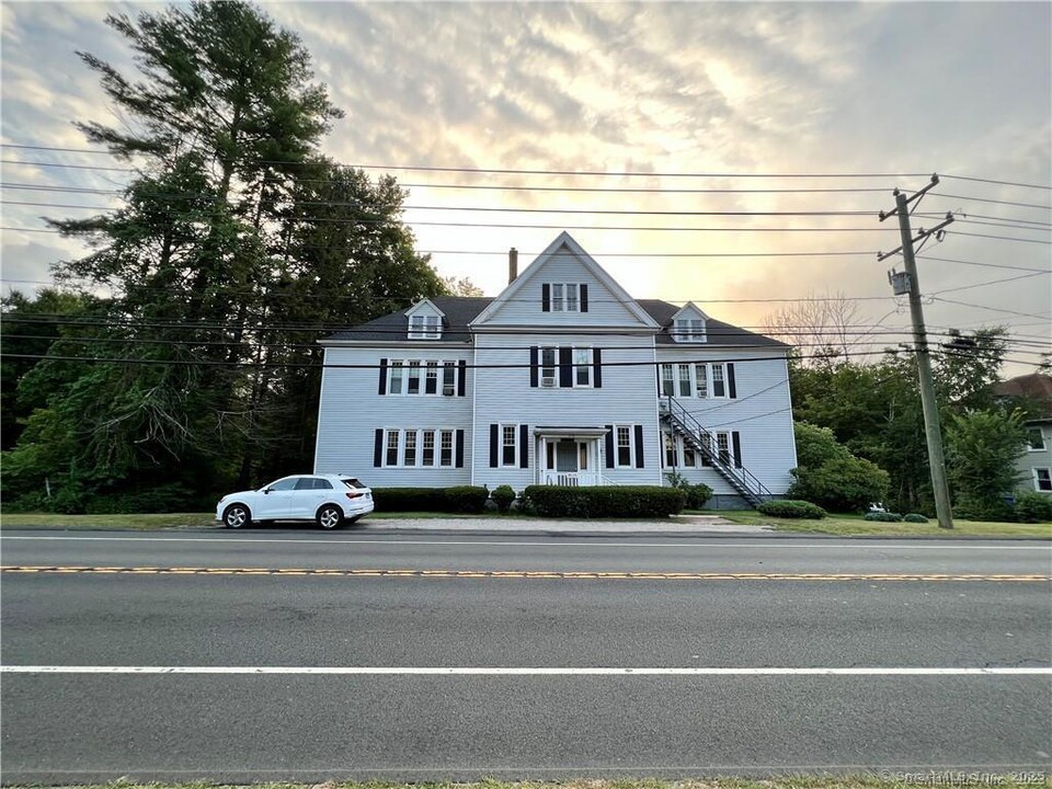
<path fill-rule="evenodd" d="M 56 277 L 116 295 L 5 306 L 92 320 L 42 330 L 26 347 L 52 358 L 5 366 L 4 493 L 53 487 L 77 507 L 163 489 L 185 510 L 309 468 L 317 340 L 446 288 L 397 182 L 319 152 L 342 112 L 295 34 L 238 0 L 106 21 L 138 72 L 80 53 L 121 125 L 77 125 L 136 175 L 118 210 L 50 222 L 91 248 Z"/>

